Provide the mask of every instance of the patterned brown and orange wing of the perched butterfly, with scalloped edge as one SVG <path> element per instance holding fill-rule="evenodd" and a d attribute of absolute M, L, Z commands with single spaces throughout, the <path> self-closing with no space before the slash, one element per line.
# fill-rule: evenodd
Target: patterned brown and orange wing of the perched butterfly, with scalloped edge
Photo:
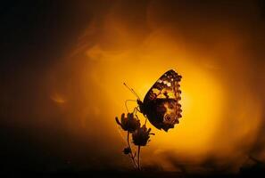
<path fill-rule="evenodd" d="M 172 69 L 164 73 L 146 93 L 143 101 L 144 115 L 158 129 L 168 131 L 181 117 L 181 76 Z"/>

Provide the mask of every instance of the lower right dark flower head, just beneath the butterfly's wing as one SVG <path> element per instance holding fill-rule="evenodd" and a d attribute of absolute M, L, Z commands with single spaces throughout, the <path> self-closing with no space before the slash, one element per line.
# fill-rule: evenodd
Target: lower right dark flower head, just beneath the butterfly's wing
<path fill-rule="evenodd" d="M 138 146 L 145 146 L 149 142 L 151 128 L 147 129 L 145 125 L 138 127 L 137 130 L 132 134 L 133 142 Z M 154 135 L 154 134 L 153 134 Z"/>

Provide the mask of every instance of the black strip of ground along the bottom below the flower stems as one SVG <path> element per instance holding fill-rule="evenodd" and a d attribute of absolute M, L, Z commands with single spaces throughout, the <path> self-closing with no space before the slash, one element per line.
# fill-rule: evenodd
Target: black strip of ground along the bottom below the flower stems
<path fill-rule="evenodd" d="M 71 168 L 57 170 L 53 172 L 34 172 L 34 171 L 4 171 L 2 172 L 2 177 L 264 177 L 265 176 L 265 167 L 264 165 L 256 165 L 251 167 L 241 168 L 240 172 L 237 174 L 228 174 L 228 173 L 211 173 L 211 174 L 187 174 L 181 172 L 163 172 L 158 170 L 144 170 L 144 171 L 135 171 L 135 170 L 74 170 Z"/>

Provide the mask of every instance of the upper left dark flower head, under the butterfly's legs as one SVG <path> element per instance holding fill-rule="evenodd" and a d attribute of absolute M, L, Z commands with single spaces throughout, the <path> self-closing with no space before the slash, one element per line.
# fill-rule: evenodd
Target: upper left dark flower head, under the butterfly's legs
<path fill-rule="evenodd" d="M 120 125 L 123 130 L 130 133 L 133 133 L 141 125 L 140 121 L 137 119 L 137 117 L 134 117 L 133 113 L 128 113 L 127 117 L 125 117 L 125 114 L 122 113 L 120 120 L 118 117 L 115 117 L 115 119 L 117 124 Z"/>

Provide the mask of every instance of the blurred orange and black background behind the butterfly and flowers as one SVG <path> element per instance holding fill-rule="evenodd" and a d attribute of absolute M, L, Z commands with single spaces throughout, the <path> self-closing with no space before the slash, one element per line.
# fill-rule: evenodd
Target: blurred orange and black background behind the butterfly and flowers
<path fill-rule="evenodd" d="M 237 173 L 265 161 L 265 2 L 1 3 L 4 171 L 130 170 L 114 117 L 168 69 L 183 117 L 142 149 L 144 167 Z M 129 109 L 137 106 L 132 102 Z M 144 120 L 141 117 L 142 121 Z"/>

